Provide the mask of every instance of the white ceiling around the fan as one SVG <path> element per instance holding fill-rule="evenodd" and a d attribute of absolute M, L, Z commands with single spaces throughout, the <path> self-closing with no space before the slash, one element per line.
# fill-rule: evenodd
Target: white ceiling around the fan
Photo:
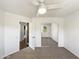
<path fill-rule="evenodd" d="M 37 6 L 33 0 L 0 0 L 0 9 L 27 17 L 35 17 Z M 79 10 L 79 0 L 45 0 L 46 4 L 60 4 L 60 9 L 48 10 L 42 17 L 63 17 Z"/>

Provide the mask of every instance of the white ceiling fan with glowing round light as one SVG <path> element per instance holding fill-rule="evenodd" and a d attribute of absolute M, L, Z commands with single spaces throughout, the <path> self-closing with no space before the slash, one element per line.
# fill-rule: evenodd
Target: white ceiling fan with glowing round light
<path fill-rule="evenodd" d="M 45 0 L 33 0 L 33 5 L 38 6 L 38 14 L 45 14 L 48 9 L 60 8 L 58 4 L 46 5 Z"/>

